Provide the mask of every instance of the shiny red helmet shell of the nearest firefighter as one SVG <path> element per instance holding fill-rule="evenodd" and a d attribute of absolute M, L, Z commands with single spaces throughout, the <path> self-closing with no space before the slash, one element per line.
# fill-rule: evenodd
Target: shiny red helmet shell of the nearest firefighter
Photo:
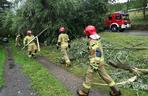
<path fill-rule="evenodd" d="M 96 27 L 93 25 L 88 25 L 87 27 L 85 27 L 84 33 L 86 36 L 96 34 Z"/>

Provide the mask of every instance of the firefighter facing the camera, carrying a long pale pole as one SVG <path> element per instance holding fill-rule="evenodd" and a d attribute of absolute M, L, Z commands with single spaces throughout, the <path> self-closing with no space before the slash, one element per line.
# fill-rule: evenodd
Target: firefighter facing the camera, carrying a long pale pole
<path fill-rule="evenodd" d="M 26 44 L 28 44 L 33 38 L 34 38 L 34 36 L 32 35 L 32 31 L 31 30 L 28 30 L 27 31 L 27 36 L 23 40 L 24 46 Z M 36 53 L 37 53 L 37 46 L 36 46 L 35 42 L 32 41 L 32 42 L 30 42 L 28 44 L 28 57 L 29 58 L 30 57 L 34 57 Z"/>

